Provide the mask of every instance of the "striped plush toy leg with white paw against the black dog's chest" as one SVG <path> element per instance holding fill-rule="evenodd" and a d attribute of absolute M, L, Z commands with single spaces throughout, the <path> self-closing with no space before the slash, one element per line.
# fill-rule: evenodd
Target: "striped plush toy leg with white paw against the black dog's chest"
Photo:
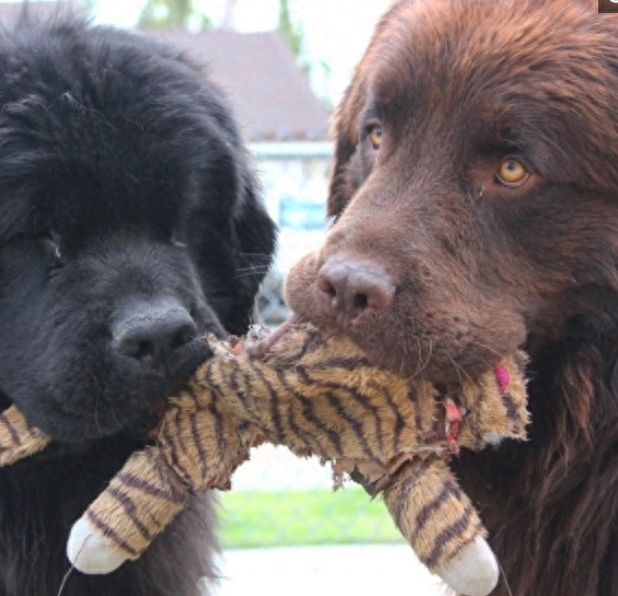
<path fill-rule="evenodd" d="M 154 447 L 137 452 L 73 525 L 69 561 L 83 573 L 109 573 L 137 559 L 187 503 L 188 489 Z"/>

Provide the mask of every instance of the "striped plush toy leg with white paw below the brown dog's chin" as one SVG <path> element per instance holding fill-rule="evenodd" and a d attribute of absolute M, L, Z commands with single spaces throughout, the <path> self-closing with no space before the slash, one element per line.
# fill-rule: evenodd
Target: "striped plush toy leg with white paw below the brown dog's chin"
<path fill-rule="evenodd" d="M 498 563 L 485 527 L 444 461 L 408 464 L 384 500 L 419 559 L 455 592 L 486 596 L 495 587 Z"/>

